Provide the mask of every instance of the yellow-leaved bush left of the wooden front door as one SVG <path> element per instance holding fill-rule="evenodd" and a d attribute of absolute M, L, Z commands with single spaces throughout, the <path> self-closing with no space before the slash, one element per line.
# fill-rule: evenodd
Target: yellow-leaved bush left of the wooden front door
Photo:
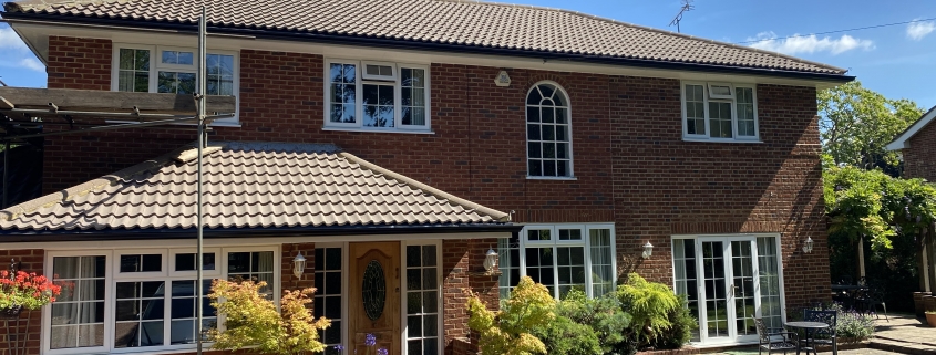
<path fill-rule="evenodd" d="M 212 306 L 218 315 L 225 316 L 224 332 L 208 331 L 208 340 L 215 349 L 241 349 L 256 346 L 261 354 L 292 355 L 318 353 L 325 344 L 318 341 L 320 330 L 331 322 L 325 317 L 315 320 L 306 307 L 311 303 L 315 288 L 285 291 L 277 312 L 276 305 L 260 293 L 266 282 L 225 281 L 212 282 Z"/>

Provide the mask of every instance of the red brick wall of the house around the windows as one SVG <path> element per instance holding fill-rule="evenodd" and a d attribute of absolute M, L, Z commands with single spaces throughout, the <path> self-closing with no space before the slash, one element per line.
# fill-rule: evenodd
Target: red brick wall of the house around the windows
<path fill-rule="evenodd" d="M 109 90 L 111 55 L 107 41 L 50 38 L 49 87 Z M 814 87 L 758 85 L 762 143 L 693 143 L 681 137 L 677 80 L 511 69 L 512 84 L 497 87 L 501 70 L 433 63 L 432 135 L 333 132 L 321 129 L 321 56 L 243 50 L 241 127 L 215 127 L 210 139 L 331 143 L 455 196 L 513 210 L 516 222 L 614 222 L 619 265 L 666 283 L 672 234 L 782 233 L 788 306 L 829 299 Z M 543 80 L 570 96 L 575 180 L 525 178 L 524 103 Z M 138 164 L 193 138 L 179 129 L 48 137 L 43 189 Z M 812 254 L 800 251 L 806 237 L 815 241 Z M 642 260 L 647 241 L 656 248 Z M 496 303 L 496 279 L 469 270 L 477 264 L 469 251 L 486 251 L 485 242 L 443 242 L 450 353 L 461 344 L 454 340 L 469 335 L 462 291 L 487 290 Z M 286 253 L 285 286 L 291 282 Z"/>

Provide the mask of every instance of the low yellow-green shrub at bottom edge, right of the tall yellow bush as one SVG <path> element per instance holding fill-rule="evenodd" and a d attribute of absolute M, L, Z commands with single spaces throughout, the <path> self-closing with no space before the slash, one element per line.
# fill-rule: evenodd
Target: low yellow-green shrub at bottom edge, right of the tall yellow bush
<path fill-rule="evenodd" d="M 594 355 L 604 353 L 598 336 L 588 324 L 576 323 L 565 316 L 556 316 L 552 322 L 535 327 L 533 333 L 543 341 L 546 346 L 546 354 Z"/>

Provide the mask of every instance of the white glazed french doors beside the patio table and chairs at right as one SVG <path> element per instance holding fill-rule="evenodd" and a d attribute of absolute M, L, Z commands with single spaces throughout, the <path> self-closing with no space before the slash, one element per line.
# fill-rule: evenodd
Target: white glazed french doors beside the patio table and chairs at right
<path fill-rule="evenodd" d="M 782 322 L 775 237 L 673 240 L 677 292 L 699 320 L 706 345 L 757 342 L 754 319 Z"/>

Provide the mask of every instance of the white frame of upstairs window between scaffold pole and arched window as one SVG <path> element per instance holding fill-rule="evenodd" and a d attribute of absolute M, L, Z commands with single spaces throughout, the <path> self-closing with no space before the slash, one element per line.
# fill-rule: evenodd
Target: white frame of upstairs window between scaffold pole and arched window
<path fill-rule="evenodd" d="M 354 64 L 354 123 L 331 122 L 331 80 L 329 71 L 331 64 Z M 393 77 L 387 76 L 371 76 L 364 77 L 364 65 L 390 65 L 393 67 Z M 327 58 L 323 65 L 323 115 L 322 115 L 322 130 L 360 130 L 360 132 L 381 132 L 381 133 L 413 133 L 413 134 L 432 134 L 432 80 L 429 64 L 418 64 L 410 62 L 378 62 L 367 60 L 352 60 L 344 58 Z M 423 70 L 425 75 L 425 125 L 404 125 L 403 124 L 403 96 L 402 96 L 402 69 L 419 69 Z M 388 84 L 393 83 L 393 127 L 367 127 L 363 125 L 363 85 L 364 83 Z"/>

